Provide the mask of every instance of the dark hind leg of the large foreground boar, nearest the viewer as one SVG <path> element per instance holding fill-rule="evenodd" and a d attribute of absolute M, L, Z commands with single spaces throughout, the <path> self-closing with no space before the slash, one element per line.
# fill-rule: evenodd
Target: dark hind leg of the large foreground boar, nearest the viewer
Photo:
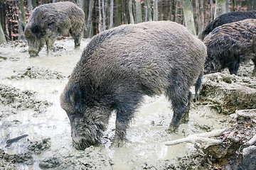
<path fill-rule="evenodd" d="M 169 130 L 176 131 L 181 120 L 186 122 L 188 120 L 188 111 L 190 108 L 191 91 L 189 87 L 183 84 L 182 79 L 176 79 L 173 81 L 172 86 L 167 91 L 167 96 L 171 101 L 171 105 L 174 111 Z"/>

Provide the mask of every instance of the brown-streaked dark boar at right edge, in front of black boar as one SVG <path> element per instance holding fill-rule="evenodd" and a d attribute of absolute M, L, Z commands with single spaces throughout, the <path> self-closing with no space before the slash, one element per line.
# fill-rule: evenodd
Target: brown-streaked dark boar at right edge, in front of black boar
<path fill-rule="evenodd" d="M 205 73 L 221 72 L 228 68 L 230 74 L 237 74 L 240 63 L 250 59 L 256 65 L 255 36 L 256 19 L 226 23 L 215 28 L 203 40 L 208 55 Z"/>

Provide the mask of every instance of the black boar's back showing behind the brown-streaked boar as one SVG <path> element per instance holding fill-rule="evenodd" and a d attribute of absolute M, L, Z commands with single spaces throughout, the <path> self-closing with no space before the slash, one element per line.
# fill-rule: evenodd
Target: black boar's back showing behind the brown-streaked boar
<path fill-rule="evenodd" d="M 233 23 L 249 18 L 256 19 L 256 11 L 235 11 L 230 13 L 223 13 L 213 21 L 210 21 L 208 26 L 206 26 L 206 29 L 198 35 L 198 38 L 203 40 L 211 31 L 225 23 Z"/>

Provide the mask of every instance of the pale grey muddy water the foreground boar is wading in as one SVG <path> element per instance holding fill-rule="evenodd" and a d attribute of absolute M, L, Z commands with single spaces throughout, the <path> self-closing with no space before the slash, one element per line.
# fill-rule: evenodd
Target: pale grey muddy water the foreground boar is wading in
<path fill-rule="evenodd" d="M 50 55 L 44 48 L 38 57 L 33 58 L 28 55 L 26 42 L 1 45 L 0 84 L 21 91 L 36 91 L 34 97 L 37 100 L 51 103 L 46 111 L 41 112 L 33 108 L 0 110 L 0 149 L 10 155 L 28 152 L 32 155 L 24 162 L 14 162 L 17 169 L 162 169 L 168 166 L 166 160 L 175 163 L 177 157 L 194 150 L 191 144 L 167 147 L 164 142 L 230 125 L 227 115 L 220 115 L 208 106 L 194 106 L 192 103 L 189 122 L 182 124 L 178 133 L 169 133 L 166 131 L 172 117 L 169 101 L 164 96 L 145 96 L 142 107 L 127 131 L 128 142 L 124 142 L 123 147 L 115 147 L 111 142 L 114 138 L 113 112 L 101 145 L 85 151 L 74 149 L 69 120 L 60 108 L 59 96 L 87 42 L 89 40 L 82 40 L 80 50 L 74 50 L 73 40 L 60 40 L 55 42 L 55 49 Z M 28 73 L 23 74 L 31 69 L 38 72 L 38 78 L 31 79 Z M 49 77 L 48 74 L 42 77 L 39 75 L 41 72 L 58 73 L 62 77 Z M 18 74 L 23 74 L 23 77 L 16 78 Z M 5 147 L 6 140 L 23 134 L 28 134 L 28 137 L 11 147 Z M 41 147 L 40 142 L 46 147 Z M 39 144 L 38 150 L 33 149 L 31 152 L 31 145 L 34 147 Z"/>

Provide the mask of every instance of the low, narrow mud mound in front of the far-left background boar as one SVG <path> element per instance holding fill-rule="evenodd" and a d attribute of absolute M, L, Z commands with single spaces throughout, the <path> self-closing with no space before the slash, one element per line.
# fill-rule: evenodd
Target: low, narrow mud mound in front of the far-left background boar
<path fill-rule="evenodd" d="M 9 77 L 8 79 L 63 79 L 65 78 L 64 74 L 60 72 L 52 71 L 46 68 L 40 67 L 28 67 L 25 70 L 14 71 L 19 72 L 18 74 Z"/>

